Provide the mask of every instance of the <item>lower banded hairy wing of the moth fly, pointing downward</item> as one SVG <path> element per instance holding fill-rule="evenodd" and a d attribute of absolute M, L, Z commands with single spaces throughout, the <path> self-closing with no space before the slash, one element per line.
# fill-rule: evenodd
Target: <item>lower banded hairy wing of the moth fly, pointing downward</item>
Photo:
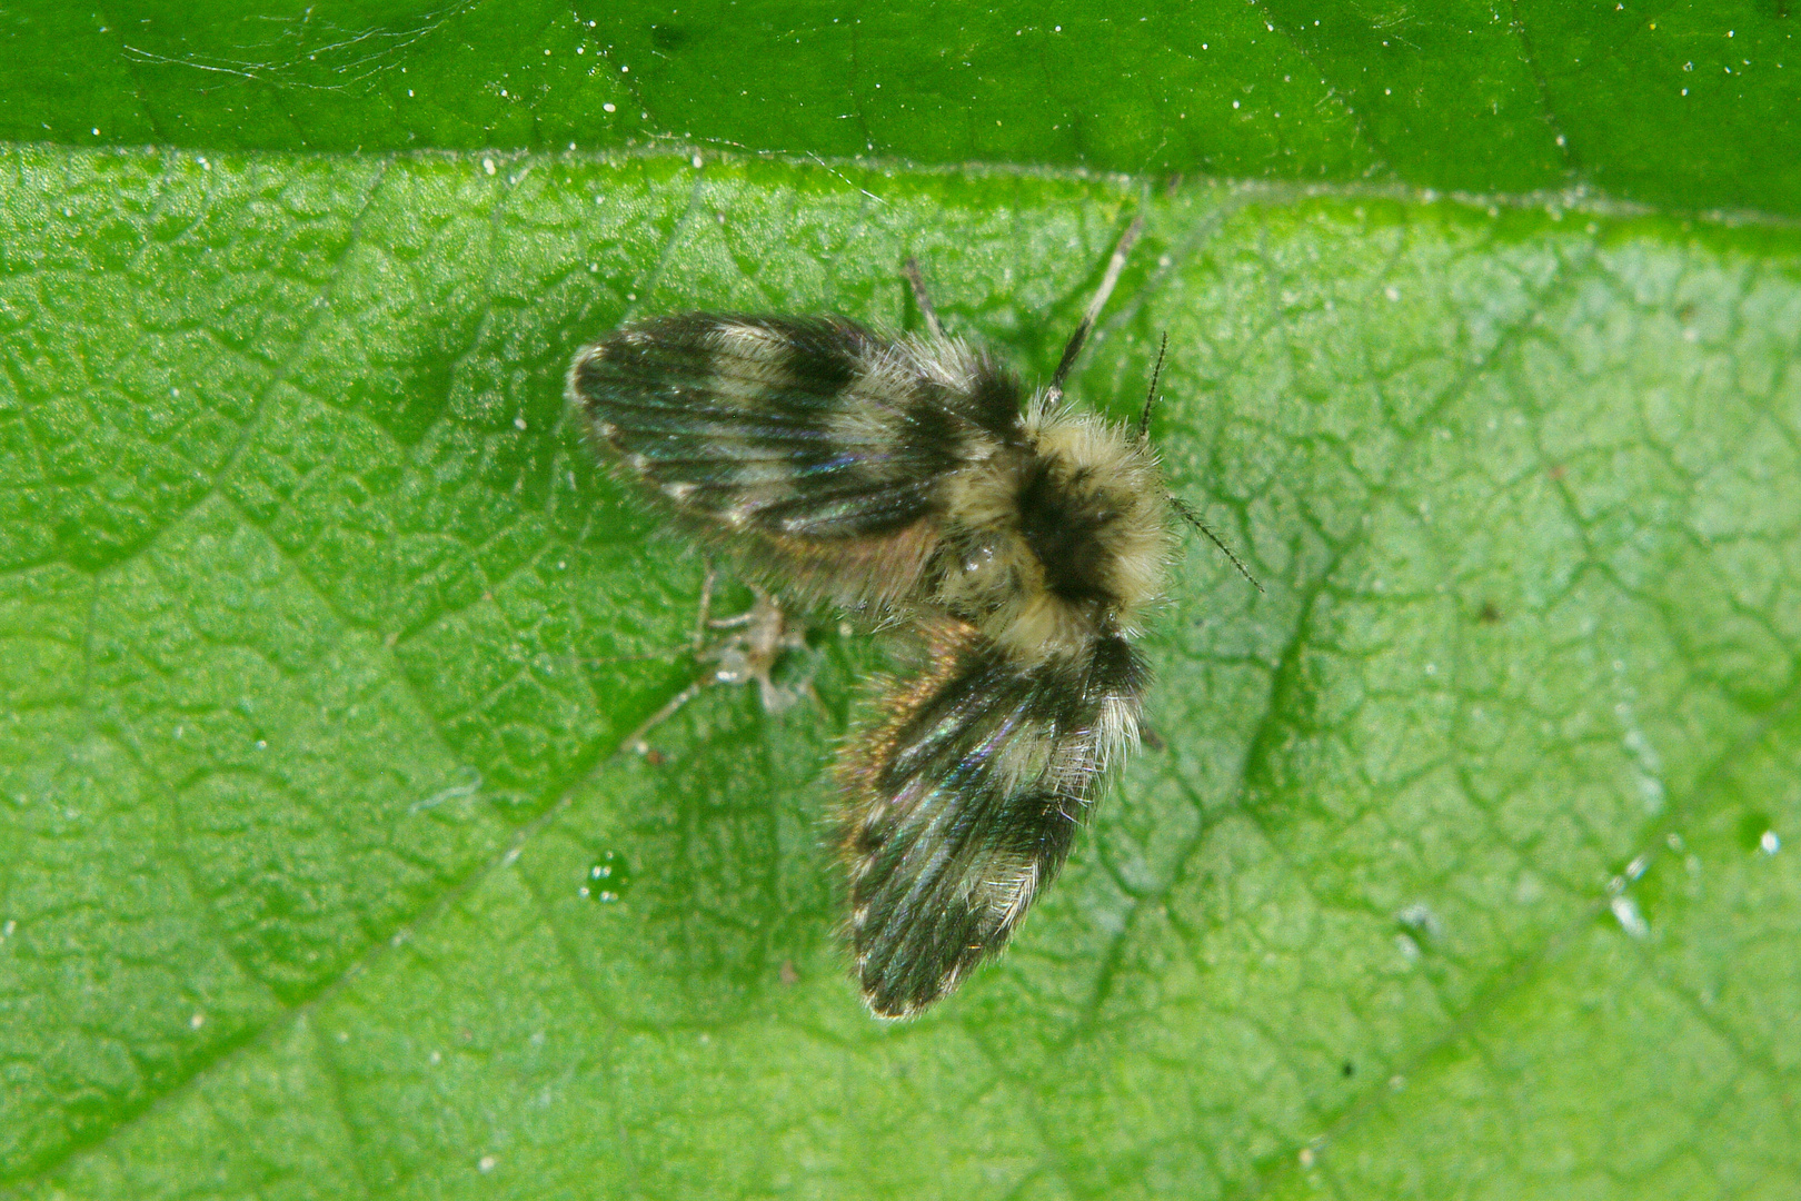
<path fill-rule="evenodd" d="M 839 767 L 848 933 L 882 1017 L 919 1012 L 1012 936 L 1136 740 L 1149 682 L 1122 637 L 1021 664 L 962 621 L 922 634 L 928 668 Z"/>

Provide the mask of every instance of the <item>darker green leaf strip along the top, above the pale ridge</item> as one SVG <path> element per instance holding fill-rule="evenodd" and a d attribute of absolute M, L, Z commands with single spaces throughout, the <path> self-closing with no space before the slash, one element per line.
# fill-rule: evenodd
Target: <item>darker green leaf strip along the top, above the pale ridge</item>
<path fill-rule="evenodd" d="M 254 0 L 0 16 L 0 139 L 722 149 L 1801 216 L 1788 0 Z"/>

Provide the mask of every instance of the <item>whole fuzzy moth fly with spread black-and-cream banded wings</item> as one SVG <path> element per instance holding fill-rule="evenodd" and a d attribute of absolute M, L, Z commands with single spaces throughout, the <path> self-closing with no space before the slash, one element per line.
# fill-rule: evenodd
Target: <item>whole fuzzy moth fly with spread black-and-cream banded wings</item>
<path fill-rule="evenodd" d="M 1136 234 L 1030 394 L 944 333 L 911 261 L 924 337 L 684 313 L 569 367 L 594 441 L 681 526 L 785 600 L 910 628 L 924 650 L 879 684 L 837 771 L 848 940 L 882 1017 L 1007 944 L 1138 742 L 1133 639 L 1174 555 L 1171 515 L 1199 522 L 1147 439 L 1154 378 L 1135 427 L 1063 396 Z"/>

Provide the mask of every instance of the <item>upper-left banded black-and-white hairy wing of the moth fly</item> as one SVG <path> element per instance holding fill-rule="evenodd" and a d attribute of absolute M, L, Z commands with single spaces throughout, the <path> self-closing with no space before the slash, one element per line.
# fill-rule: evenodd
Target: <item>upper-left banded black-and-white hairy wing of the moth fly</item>
<path fill-rule="evenodd" d="M 569 400 L 670 511 L 846 605 L 917 587 L 946 475 L 1019 429 L 987 355 L 843 317 L 630 324 L 576 355 Z"/>

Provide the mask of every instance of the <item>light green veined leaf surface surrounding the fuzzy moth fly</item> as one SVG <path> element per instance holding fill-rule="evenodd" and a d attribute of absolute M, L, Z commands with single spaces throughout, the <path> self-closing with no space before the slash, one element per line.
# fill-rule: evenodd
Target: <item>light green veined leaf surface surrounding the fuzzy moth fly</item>
<path fill-rule="evenodd" d="M 1801 239 L 1018 173 L 11 149 L 20 1197 L 1778 1197 L 1801 1172 Z M 845 978 L 816 700 L 562 418 L 638 313 L 946 321 L 1205 542 L 1014 949 Z M 744 596 L 726 596 L 742 601 Z"/>

